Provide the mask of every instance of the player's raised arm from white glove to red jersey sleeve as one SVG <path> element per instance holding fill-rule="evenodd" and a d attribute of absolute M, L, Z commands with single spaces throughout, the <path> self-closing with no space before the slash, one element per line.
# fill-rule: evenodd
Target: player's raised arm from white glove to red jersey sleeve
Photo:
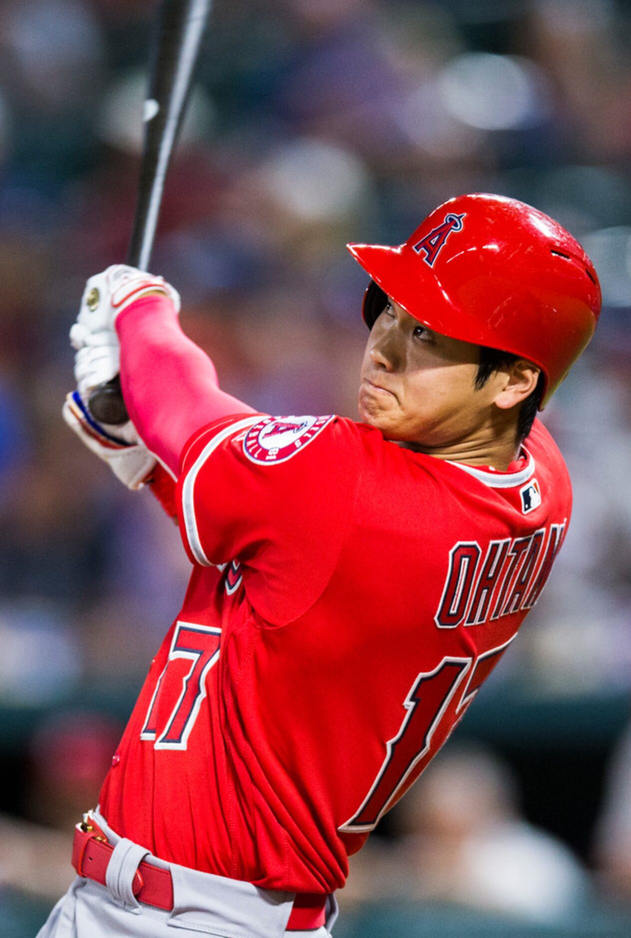
<path fill-rule="evenodd" d="M 238 558 L 255 608 L 269 622 L 291 621 L 322 593 L 349 530 L 360 475 L 352 421 L 275 419 L 226 394 L 159 278 L 117 265 L 86 290 L 74 327 L 80 391 L 116 373 L 111 360 L 101 367 L 98 337 L 117 337 L 132 426 L 179 477 L 189 556 L 203 565 Z M 305 557 L 314 558 L 307 572 Z"/>

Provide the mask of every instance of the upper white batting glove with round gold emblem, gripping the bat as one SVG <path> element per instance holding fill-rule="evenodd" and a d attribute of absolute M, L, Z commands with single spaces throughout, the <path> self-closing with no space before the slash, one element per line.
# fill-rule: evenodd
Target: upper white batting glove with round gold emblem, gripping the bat
<path fill-rule="evenodd" d="M 116 316 L 149 293 L 163 293 L 180 311 L 180 295 L 162 277 L 154 277 L 137 267 L 113 264 L 85 284 L 77 321 L 70 329 L 70 342 L 77 351 L 103 332 L 113 332 Z M 114 374 L 117 371 L 113 372 Z M 113 377 L 113 374 L 111 375 Z M 108 379 L 109 380 L 109 379 Z"/>

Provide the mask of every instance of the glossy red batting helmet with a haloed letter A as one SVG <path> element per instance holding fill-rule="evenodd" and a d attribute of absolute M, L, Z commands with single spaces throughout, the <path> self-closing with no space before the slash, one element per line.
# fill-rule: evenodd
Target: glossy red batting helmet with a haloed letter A
<path fill-rule="evenodd" d="M 593 336 L 592 262 L 557 221 L 516 199 L 459 195 L 398 248 L 348 249 L 372 279 L 369 328 L 386 294 L 429 329 L 527 358 L 545 377 L 542 407 Z"/>

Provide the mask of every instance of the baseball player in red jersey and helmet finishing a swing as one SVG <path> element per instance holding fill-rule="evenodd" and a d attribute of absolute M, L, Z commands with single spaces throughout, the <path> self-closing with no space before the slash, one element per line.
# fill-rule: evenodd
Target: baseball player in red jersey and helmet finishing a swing
<path fill-rule="evenodd" d="M 484 194 L 349 250 L 370 278 L 360 423 L 253 410 L 173 287 L 124 265 L 88 280 L 66 418 L 177 515 L 193 569 L 42 938 L 329 934 L 349 856 L 548 579 L 571 491 L 535 414 L 593 334 L 591 261 Z M 119 369 L 122 431 L 85 407 Z"/>

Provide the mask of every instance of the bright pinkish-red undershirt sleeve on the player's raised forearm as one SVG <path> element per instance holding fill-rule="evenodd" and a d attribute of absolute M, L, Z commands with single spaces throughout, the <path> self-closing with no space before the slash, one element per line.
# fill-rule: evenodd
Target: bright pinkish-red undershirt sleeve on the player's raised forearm
<path fill-rule="evenodd" d="M 128 414 L 174 478 L 194 433 L 220 417 L 256 413 L 221 390 L 213 362 L 185 336 L 167 296 L 141 296 L 117 317 L 116 331 Z"/>

